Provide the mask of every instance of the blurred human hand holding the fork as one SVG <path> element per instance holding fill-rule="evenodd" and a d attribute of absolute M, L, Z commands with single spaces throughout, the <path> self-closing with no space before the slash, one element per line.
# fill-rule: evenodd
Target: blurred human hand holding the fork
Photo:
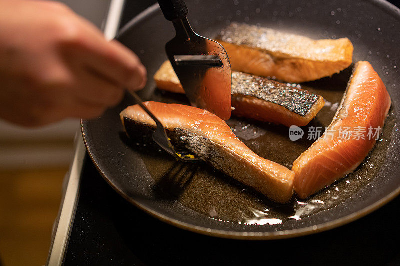
<path fill-rule="evenodd" d="M 23 126 L 93 118 L 145 83 L 133 52 L 65 5 L 0 1 L 1 118 Z"/>

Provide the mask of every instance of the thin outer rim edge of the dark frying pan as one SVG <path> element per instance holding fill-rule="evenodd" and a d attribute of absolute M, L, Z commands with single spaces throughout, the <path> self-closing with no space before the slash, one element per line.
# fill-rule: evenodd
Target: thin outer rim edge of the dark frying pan
<path fill-rule="evenodd" d="M 400 9 L 394 6 L 393 4 L 385 1 L 385 0 L 364 0 L 365 2 L 369 2 L 371 4 L 374 4 L 375 6 L 379 7 L 383 11 L 388 12 L 393 18 L 396 20 L 400 21 Z M 142 11 L 140 14 L 138 14 L 136 17 L 134 17 L 130 22 L 128 22 L 118 33 L 118 37 L 124 35 L 129 28 L 131 28 L 133 25 L 139 23 L 141 20 L 145 19 L 147 16 L 151 15 L 154 12 L 160 12 L 159 5 L 157 3 L 151 5 L 144 11 Z M 272 231 L 272 232 L 241 232 L 241 231 L 228 231 L 228 230 L 220 230 L 220 229 L 211 229 L 207 227 L 202 227 L 202 226 L 196 226 L 193 224 L 189 224 L 186 222 L 182 222 L 180 220 L 177 220 L 175 218 L 163 215 L 157 211 L 154 211 L 150 208 L 147 208 L 143 204 L 139 203 L 138 201 L 134 200 L 133 198 L 130 198 L 127 196 L 121 189 L 117 188 L 112 182 L 106 177 L 106 175 L 101 171 L 101 168 L 95 161 L 92 152 L 90 151 L 89 145 L 88 145 L 88 140 L 86 139 L 86 130 L 87 126 L 85 126 L 85 123 L 87 121 L 81 120 L 81 131 L 82 131 L 82 136 L 83 140 L 86 146 L 86 150 L 94 164 L 94 166 L 97 168 L 98 172 L 101 174 L 101 176 L 105 179 L 105 181 L 116 191 L 118 194 L 120 194 L 124 199 L 126 199 L 128 202 L 136 206 L 137 208 L 143 210 L 144 212 L 148 213 L 149 215 L 166 222 L 170 225 L 176 226 L 181 229 L 189 230 L 192 232 L 208 235 L 208 236 L 213 236 L 213 237 L 222 237 L 222 238 L 228 238 L 228 239 L 245 239 L 245 240 L 269 240 L 269 239 L 284 239 L 284 238 L 294 238 L 294 237 L 299 237 L 299 236 L 305 236 L 305 235 L 310 235 L 318 232 L 323 232 L 327 231 L 348 223 L 351 223 L 359 218 L 362 218 L 371 212 L 377 210 L 378 208 L 382 207 L 383 205 L 387 204 L 391 200 L 393 200 L 396 196 L 400 194 L 400 187 L 386 195 L 385 197 L 381 198 L 380 200 L 374 202 L 373 204 L 370 204 L 356 212 L 353 212 L 351 214 L 348 214 L 346 216 L 337 218 L 332 221 L 328 221 L 325 223 L 321 223 L 318 225 L 312 225 L 304 228 L 297 228 L 297 229 L 288 229 L 288 230 L 282 230 L 282 231 Z"/>

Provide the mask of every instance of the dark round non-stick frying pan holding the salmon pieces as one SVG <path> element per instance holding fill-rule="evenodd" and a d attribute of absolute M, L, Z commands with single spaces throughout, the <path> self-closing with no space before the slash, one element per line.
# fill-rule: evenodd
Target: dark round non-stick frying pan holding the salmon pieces
<path fill-rule="evenodd" d="M 314 39 L 348 37 L 353 61 L 367 60 L 385 83 L 392 99 L 381 139 L 351 174 L 307 200 L 295 197 L 285 205 L 204 162 L 182 163 L 152 144 L 128 139 L 119 112 L 134 104 L 126 95 L 98 119 L 82 121 L 87 150 L 105 180 L 124 198 L 151 215 L 195 232 L 227 238 L 272 239 L 327 230 L 360 218 L 400 193 L 400 131 L 396 123 L 400 93 L 400 11 L 381 0 L 194 0 L 187 1 L 193 29 L 215 37 L 232 21 L 270 27 Z M 166 60 L 165 43 L 174 36 L 172 24 L 153 5 L 119 33 L 118 40 L 133 50 L 148 70 L 140 92 L 145 100 L 188 104 L 184 95 L 156 89 L 153 74 Z M 340 102 L 351 67 L 302 88 L 322 95 L 327 103 L 302 129 L 327 126 Z M 314 141 L 290 141 L 288 128 L 245 118 L 227 121 L 235 134 L 262 157 L 291 167 Z"/>

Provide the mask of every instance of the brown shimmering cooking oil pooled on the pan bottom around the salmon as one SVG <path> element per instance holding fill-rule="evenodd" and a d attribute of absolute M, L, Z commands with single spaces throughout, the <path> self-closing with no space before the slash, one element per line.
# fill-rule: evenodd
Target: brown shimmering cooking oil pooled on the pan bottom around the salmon
<path fill-rule="evenodd" d="M 331 79 L 325 78 L 301 85 L 303 89 L 322 95 L 327 103 L 309 125 L 301 127 L 304 132 L 307 132 L 310 126 L 324 128 L 330 124 L 349 75 L 348 71 L 347 74 L 340 74 Z M 173 102 L 171 95 L 155 95 L 157 100 Z M 186 103 L 179 100 L 174 102 Z M 396 123 L 394 113 L 392 107 L 381 139 L 354 172 L 306 200 L 299 200 L 294 196 L 287 204 L 269 201 L 264 195 L 213 169 L 205 162 L 178 162 L 163 151 L 148 153 L 148 147 L 144 149 L 147 152 L 139 152 L 155 181 L 154 193 L 158 193 L 165 200 L 177 200 L 187 208 L 226 223 L 276 225 L 287 221 L 300 221 L 319 211 L 340 205 L 373 179 L 385 159 L 391 131 Z M 282 125 L 236 117 L 232 117 L 227 123 L 255 153 L 288 168 L 291 168 L 293 161 L 315 141 L 305 137 L 291 141 L 288 128 Z"/>

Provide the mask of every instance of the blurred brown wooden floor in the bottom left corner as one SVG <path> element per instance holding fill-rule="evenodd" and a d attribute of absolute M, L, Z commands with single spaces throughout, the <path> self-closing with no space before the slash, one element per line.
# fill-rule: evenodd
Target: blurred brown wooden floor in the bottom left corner
<path fill-rule="evenodd" d="M 0 265 L 45 264 L 67 170 L 0 171 Z"/>

